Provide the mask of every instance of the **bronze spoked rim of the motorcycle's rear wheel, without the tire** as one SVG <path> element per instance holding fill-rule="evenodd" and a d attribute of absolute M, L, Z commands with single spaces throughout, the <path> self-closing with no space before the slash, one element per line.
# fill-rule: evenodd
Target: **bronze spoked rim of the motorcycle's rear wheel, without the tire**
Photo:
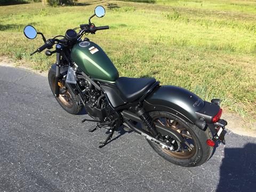
<path fill-rule="evenodd" d="M 167 126 L 170 129 L 177 131 L 181 137 L 185 140 L 185 142 L 180 143 L 180 149 L 177 152 L 170 151 L 167 149 L 162 149 L 164 153 L 171 155 L 176 158 L 186 159 L 192 157 L 196 152 L 196 142 L 193 139 L 192 135 L 186 129 L 185 126 L 180 124 L 177 121 L 166 117 L 158 117 L 154 120 L 157 123 L 160 123 L 163 126 Z"/>

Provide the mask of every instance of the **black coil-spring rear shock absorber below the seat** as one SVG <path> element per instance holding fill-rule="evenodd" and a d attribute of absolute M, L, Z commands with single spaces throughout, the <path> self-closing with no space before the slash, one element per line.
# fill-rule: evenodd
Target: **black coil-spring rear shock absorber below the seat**
<path fill-rule="evenodd" d="M 158 132 L 156 131 L 156 126 L 153 123 L 153 119 L 149 116 L 147 111 L 143 108 L 137 108 L 136 114 L 140 117 L 140 119 L 146 124 L 149 130 L 153 133 L 153 135 L 158 139 Z"/>

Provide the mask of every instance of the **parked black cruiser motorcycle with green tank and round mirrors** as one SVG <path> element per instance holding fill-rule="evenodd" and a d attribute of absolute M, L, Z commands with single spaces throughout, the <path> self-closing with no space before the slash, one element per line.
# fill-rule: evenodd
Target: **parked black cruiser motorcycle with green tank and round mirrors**
<path fill-rule="evenodd" d="M 91 22 L 94 16 L 102 18 L 105 13 L 104 7 L 97 6 L 88 24 L 47 41 L 33 26 L 25 27 L 27 38 L 34 39 L 39 34 L 44 41 L 30 55 L 45 49 L 47 56 L 57 55 L 48 74 L 55 99 L 70 114 L 85 108 L 92 119 L 82 122 L 97 123 L 90 132 L 108 129 L 100 148 L 123 127 L 145 137 L 156 153 L 171 163 L 198 166 L 208 161 L 218 143 L 225 143 L 227 122 L 221 119 L 220 100 L 204 101 L 181 87 L 160 85 L 155 78 L 119 77 L 101 47 L 89 38 L 82 39 L 83 35 L 109 29 Z"/>

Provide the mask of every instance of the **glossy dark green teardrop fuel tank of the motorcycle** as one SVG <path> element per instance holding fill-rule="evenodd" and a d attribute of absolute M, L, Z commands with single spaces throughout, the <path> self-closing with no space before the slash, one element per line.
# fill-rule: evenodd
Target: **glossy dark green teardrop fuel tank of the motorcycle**
<path fill-rule="evenodd" d="M 82 41 L 74 45 L 71 60 L 90 77 L 103 82 L 115 83 L 119 77 L 113 62 L 99 45 Z"/>

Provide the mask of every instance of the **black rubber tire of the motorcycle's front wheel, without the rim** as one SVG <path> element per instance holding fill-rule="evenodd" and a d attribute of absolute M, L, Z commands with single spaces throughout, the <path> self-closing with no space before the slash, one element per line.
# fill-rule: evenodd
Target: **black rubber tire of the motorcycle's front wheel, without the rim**
<path fill-rule="evenodd" d="M 53 90 L 53 86 L 52 86 L 52 78 L 55 78 L 55 70 L 53 69 L 50 69 L 49 70 L 49 73 L 48 73 L 48 81 L 49 81 L 49 85 L 50 85 L 50 88 L 51 88 L 51 91 L 54 95 L 54 92 L 55 90 Z M 66 87 L 68 88 L 68 90 L 70 90 L 70 86 L 68 84 L 66 84 Z M 83 106 L 79 106 L 77 105 L 77 101 L 78 101 L 78 95 L 74 94 L 73 91 L 69 91 L 69 93 L 71 94 L 71 97 L 72 97 L 72 102 L 73 102 L 73 105 L 71 108 L 68 108 L 67 106 L 65 106 L 61 100 L 59 98 L 56 98 L 55 99 L 58 101 L 58 103 L 60 104 L 60 106 L 65 110 L 67 111 L 68 113 L 70 114 L 73 114 L 73 115 L 77 115 L 80 113 L 80 111 L 83 109 Z"/>

